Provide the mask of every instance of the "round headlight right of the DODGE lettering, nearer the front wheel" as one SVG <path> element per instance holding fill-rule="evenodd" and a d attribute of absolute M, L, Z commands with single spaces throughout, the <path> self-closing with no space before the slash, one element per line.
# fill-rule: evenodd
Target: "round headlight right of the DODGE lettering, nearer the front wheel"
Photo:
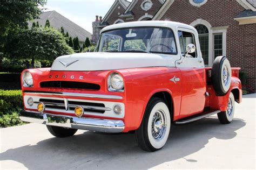
<path fill-rule="evenodd" d="M 107 78 L 107 87 L 110 91 L 124 90 L 123 77 L 118 73 L 111 73 Z"/>

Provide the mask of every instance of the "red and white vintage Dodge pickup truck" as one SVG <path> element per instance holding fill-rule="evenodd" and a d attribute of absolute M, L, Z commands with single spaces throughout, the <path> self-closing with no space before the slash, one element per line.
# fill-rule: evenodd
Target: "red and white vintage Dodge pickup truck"
<path fill-rule="evenodd" d="M 60 56 L 51 68 L 23 71 L 20 118 L 45 124 L 56 137 L 77 129 L 135 131 L 143 150 L 156 151 L 165 145 L 171 124 L 213 114 L 230 123 L 242 98 L 238 71 L 225 56 L 205 68 L 190 25 L 111 25 L 101 31 L 95 53 Z"/>

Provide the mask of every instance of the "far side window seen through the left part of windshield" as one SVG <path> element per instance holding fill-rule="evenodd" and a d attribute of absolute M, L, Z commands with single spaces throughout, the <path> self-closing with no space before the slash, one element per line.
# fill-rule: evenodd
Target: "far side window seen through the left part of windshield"
<path fill-rule="evenodd" d="M 119 37 L 105 34 L 103 37 L 102 52 L 119 51 L 120 41 Z"/>

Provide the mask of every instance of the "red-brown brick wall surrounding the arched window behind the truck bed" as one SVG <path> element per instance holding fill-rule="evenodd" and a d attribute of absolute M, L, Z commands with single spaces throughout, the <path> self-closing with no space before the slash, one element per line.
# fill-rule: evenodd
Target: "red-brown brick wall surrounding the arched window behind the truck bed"
<path fill-rule="evenodd" d="M 227 57 L 232 67 L 241 67 L 241 72 L 247 73 L 247 84 L 255 91 L 256 24 L 239 25 L 234 20 L 244 10 L 235 0 L 208 0 L 200 7 L 176 0 L 161 20 L 190 24 L 201 18 L 213 27 L 228 25 Z"/>

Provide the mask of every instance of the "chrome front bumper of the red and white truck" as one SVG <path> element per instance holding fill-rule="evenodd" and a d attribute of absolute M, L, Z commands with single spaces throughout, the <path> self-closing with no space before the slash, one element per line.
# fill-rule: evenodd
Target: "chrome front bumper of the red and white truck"
<path fill-rule="evenodd" d="M 24 122 L 40 123 L 63 128 L 82 129 L 107 133 L 119 133 L 124 130 L 124 122 L 111 119 L 82 118 L 66 115 L 41 114 L 22 111 L 19 118 Z"/>

